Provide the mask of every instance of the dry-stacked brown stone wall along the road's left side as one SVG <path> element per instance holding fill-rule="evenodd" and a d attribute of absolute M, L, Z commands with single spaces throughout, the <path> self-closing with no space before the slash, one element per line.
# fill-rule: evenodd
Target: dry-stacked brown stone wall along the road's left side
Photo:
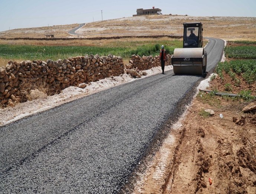
<path fill-rule="evenodd" d="M 171 56 L 167 55 L 165 65 L 170 64 L 170 58 Z M 0 67 L 0 103 L 22 102 L 24 88 L 20 86 L 27 82 L 45 83 L 50 91 L 60 91 L 69 86 L 84 88 L 92 81 L 119 76 L 128 73 L 127 70 L 137 73 L 161 65 L 159 56 L 133 55 L 129 62 L 124 66 L 122 57 L 112 54 L 102 57 L 98 54 L 78 56 L 63 61 L 8 61 L 6 67 Z"/>

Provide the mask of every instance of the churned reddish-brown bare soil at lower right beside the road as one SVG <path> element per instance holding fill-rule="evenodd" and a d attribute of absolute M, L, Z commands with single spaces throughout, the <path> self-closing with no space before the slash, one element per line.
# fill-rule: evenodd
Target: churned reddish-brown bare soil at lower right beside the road
<path fill-rule="evenodd" d="M 246 102 L 216 98 L 218 107 L 196 98 L 183 121 L 186 134 L 166 194 L 256 193 L 255 114 L 241 111 Z M 202 108 L 214 116 L 203 118 Z"/>

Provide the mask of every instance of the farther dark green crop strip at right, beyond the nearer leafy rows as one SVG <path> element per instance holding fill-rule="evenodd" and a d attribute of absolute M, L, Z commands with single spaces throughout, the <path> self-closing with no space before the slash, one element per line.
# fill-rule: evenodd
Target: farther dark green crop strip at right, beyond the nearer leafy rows
<path fill-rule="evenodd" d="M 256 59 L 256 46 L 228 46 L 224 48 L 225 57 Z"/>

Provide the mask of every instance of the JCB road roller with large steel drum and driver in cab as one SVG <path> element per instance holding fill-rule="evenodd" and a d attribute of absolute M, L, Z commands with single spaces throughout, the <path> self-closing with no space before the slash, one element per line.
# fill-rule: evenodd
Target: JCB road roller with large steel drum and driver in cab
<path fill-rule="evenodd" d="M 203 24 L 183 23 L 183 49 L 174 49 L 171 57 L 174 74 L 203 75 L 207 53 L 203 47 Z"/>

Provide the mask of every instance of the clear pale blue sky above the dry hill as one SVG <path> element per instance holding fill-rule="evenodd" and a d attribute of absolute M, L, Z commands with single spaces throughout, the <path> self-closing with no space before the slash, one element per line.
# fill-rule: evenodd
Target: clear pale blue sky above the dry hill
<path fill-rule="evenodd" d="M 0 0 L 0 31 L 88 23 L 131 17 L 136 9 L 159 8 L 163 14 L 256 17 L 256 0 Z"/>

